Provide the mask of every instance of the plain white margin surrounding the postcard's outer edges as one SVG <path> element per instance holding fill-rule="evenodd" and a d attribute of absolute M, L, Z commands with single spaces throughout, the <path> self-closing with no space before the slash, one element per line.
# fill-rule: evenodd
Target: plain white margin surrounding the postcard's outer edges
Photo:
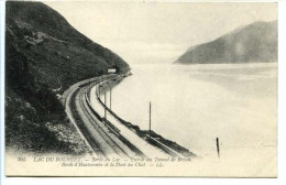
<path fill-rule="evenodd" d="M 160 0 L 161 1 L 161 0 Z M 172 1 L 172 0 L 170 0 Z M 180 1 L 180 0 L 178 0 Z M 245 2 L 245 1 L 244 1 Z M 1 43 L 1 54 L 0 54 L 0 121 L 1 121 L 1 185 L 51 185 L 51 184 L 68 184 L 68 185 L 127 185 L 127 184 L 136 184 L 136 185 L 145 185 L 145 184 L 164 184 L 164 185 L 174 185 L 174 184 L 199 184 L 199 185 L 274 185 L 274 184 L 286 184 L 286 171 L 285 171 L 285 157 L 286 157 L 286 149 L 285 149 L 285 111 L 286 111 L 286 90 L 285 90 L 285 81 L 286 79 L 286 57 L 285 57 L 285 48 L 286 48 L 286 2 L 279 1 L 278 3 L 278 36 L 279 36 L 279 69 L 278 69 L 278 178 L 155 178 L 155 177 L 56 177 L 56 178 L 47 178 L 47 177 L 6 177 L 4 170 L 4 126 L 3 126 L 3 113 L 4 113 L 4 1 L 0 0 L 0 43 Z"/>

